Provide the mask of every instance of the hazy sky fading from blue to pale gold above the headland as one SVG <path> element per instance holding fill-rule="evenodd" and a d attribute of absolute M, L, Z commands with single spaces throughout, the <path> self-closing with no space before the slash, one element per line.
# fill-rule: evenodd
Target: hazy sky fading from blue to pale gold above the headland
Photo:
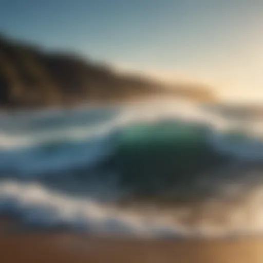
<path fill-rule="evenodd" d="M 0 0 L 0 31 L 263 102 L 263 0 Z"/>

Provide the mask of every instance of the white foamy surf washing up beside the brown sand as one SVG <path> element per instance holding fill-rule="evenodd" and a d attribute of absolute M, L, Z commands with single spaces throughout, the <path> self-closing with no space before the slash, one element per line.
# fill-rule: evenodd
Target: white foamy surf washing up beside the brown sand
<path fill-rule="evenodd" d="M 109 201 L 76 198 L 50 191 L 37 183 L 2 181 L 0 213 L 13 215 L 21 220 L 24 227 L 33 229 L 68 229 L 145 238 L 226 237 L 261 233 L 262 187 L 246 193 L 245 201 L 241 198 L 235 205 L 227 204 L 238 191 L 238 186 L 235 187 L 229 185 L 224 189 L 224 197 L 218 196 L 199 204 L 199 210 L 187 206 L 169 210 L 151 206 L 142 209 L 139 205 L 137 209 L 122 210 Z"/>

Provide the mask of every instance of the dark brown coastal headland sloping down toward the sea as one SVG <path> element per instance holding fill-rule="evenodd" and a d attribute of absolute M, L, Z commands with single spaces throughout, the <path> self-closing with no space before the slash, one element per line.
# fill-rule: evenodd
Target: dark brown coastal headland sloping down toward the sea
<path fill-rule="evenodd" d="M 90 101 L 130 100 L 152 95 L 214 101 L 202 86 L 174 85 L 118 73 L 79 54 L 47 51 L 0 35 L 0 107 L 67 106 Z"/>

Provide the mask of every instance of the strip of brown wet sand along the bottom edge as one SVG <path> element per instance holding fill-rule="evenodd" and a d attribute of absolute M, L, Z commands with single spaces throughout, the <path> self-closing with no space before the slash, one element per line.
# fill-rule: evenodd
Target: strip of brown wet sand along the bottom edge
<path fill-rule="evenodd" d="M 0 218 L 0 262 L 262 263 L 263 237 L 142 240 L 77 233 L 28 233 Z"/>

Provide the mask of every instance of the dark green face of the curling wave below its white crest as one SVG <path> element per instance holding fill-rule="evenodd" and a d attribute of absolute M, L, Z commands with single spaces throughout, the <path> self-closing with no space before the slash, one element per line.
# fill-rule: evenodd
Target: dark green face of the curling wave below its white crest
<path fill-rule="evenodd" d="M 207 134 L 208 127 L 183 122 L 126 127 L 115 155 L 122 186 L 156 196 L 191 184 L 198 174 L 226 161 L 210 147 Z"/>

